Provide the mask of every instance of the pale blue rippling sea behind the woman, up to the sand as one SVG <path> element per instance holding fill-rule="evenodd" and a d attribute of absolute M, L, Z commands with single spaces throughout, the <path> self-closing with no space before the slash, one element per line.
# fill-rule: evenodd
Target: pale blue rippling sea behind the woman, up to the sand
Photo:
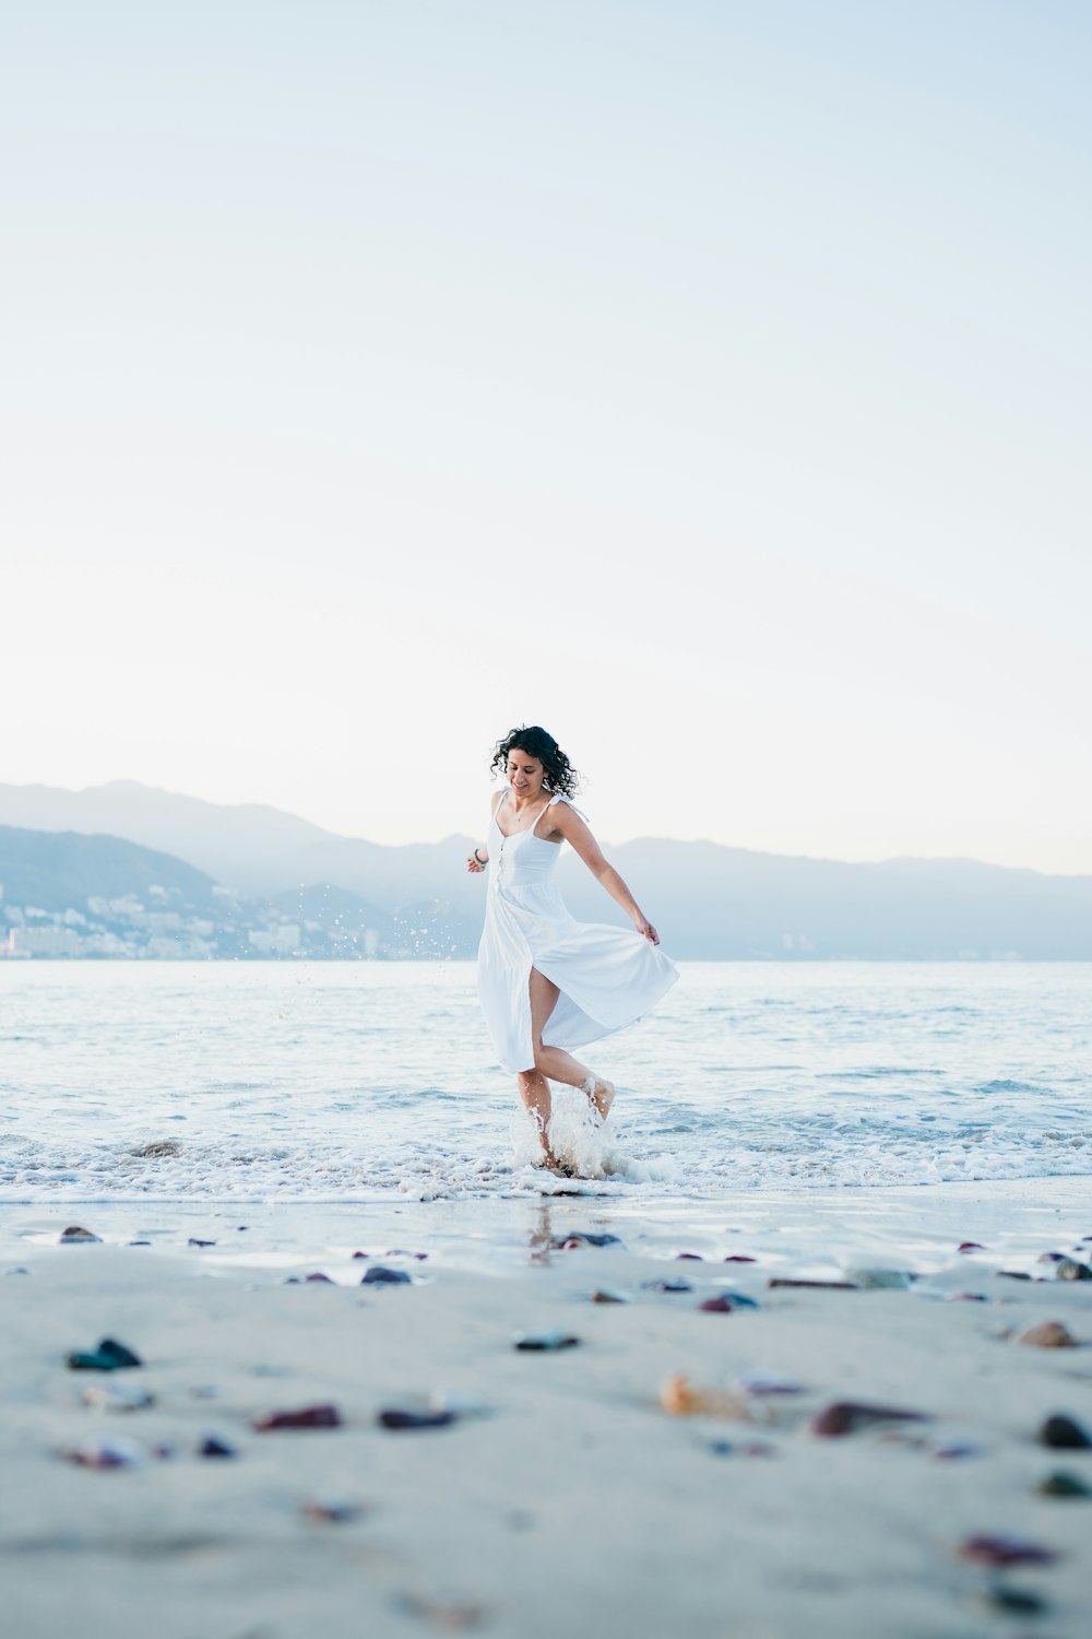
<path fill-rule="evenodd" d="M 1089 1177 L 1090 1003 L 1092 964 L 683 964 L 653 1015 L 583 1054 L 617 1085 L 594 1193 L 724 1211 Z M 530 1165 L 472 964 L 0 964 L 0 1090 L 7 1203 L 563 1187 Z M 558 1111 L 578 1126 L 578 1095 Z"/>

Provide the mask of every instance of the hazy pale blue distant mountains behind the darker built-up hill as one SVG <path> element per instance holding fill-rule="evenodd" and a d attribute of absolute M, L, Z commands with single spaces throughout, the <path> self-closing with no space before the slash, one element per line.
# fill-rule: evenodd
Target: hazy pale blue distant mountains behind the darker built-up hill
<path fill-rule="evenodd" d="M 277 808 L 208 803 L 133 780 L 85 792 L 0 785 L 0 826 L 121 838 L 267 915 L 324 916 L 331 938 L 368 926 L 391 949 L 401 941 L 401 954 L 470 956 L 481 923 L 483 880 L 465 870 L 473 838 L 385 847 Z M 964 859 L 846 864 L 657 838 L 611 847 L 609 857 L 681 959 L 1092 959 L 1092 877 Z M 0 857 L 0 880 L 3 869 Z M 576 916 L 624 921 L 568 849 L 558 874 Z"/>

